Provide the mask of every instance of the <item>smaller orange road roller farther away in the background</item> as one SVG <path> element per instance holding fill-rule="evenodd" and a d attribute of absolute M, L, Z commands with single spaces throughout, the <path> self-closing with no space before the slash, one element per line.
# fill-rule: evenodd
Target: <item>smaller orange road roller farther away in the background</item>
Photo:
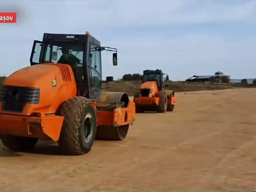
<path fill-rule="evenodd" d="M 140 91 L 136 92 L 133 101 L 136 105 L 136 113 L 144 111 L 157 111 L 165 113 L 173 111 L 176 103 L 176 96 L 172 90 L 164 90 L 164 76 L 169 76 L 162 70 L 144 70 Z"/>

